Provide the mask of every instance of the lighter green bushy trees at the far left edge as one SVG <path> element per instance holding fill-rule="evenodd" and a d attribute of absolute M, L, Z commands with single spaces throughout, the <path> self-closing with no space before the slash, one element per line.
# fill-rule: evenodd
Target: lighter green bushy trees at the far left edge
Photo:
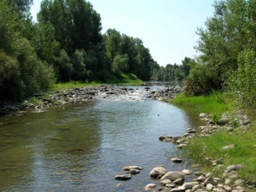
<path fill-rule="evenodd" d="M 5 1 L 0 2 L 0 99 L 18 100 L 48 89 L 54 79 L 53 67 L 38 59 L 23 35 L 32 26 L 24 13 L 27 9 L 20 6 L 12 8 Z"/>

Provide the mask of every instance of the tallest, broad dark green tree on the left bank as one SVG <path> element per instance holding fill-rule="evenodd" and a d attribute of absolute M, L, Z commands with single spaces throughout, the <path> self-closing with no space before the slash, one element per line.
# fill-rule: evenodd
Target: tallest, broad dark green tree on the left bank
<path fill-rule="evenodd" d="M 41 51 L 47 52 L 47 58 L 55 58 L 53 65 L 60 81 L 69 81 L 71 78 L 85 80 L 89 74 L 90 77 L 97 78 L 97 74 L 104 70 L 106 62 L 102 46 L 101 16 L 93 9 L 90 2 L 85 0 L 44 0 L 38 13 L 38 21 L 39 26 L 44 27 L 45 33 L 53 32 L 53 36 L 50 34 L 49 38 L 41 39 L 46 46 L 50 45 L 49 39 L 52 39 L 53 48 L 56 48 L 54 54 L 50 56 L 47 52 L 48 49 L 42 47 Z M 55 41 L 53 41 L 53 37 Z M 58 51 L 57 46 L 59 46 Z M 60 49 L 63 50 L 60 51 Z M 88 72 L 86 74 L 82 71 L 82 74 L 76 75 L 75 68 L 77 66 L 71 66 L 76 62 L 70 63 L 69 61 L 78 54 L 77 50 L 83 50 L 84 64 L 86 64 Z M 64 60 L 68 62 L 67 69 L 64 69 Z"/>

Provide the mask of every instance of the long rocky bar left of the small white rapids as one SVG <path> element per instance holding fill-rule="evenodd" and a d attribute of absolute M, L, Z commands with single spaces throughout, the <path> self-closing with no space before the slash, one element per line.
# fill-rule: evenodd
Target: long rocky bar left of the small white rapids
<path fill-rule="evenodd" d="M 46 94 L 35 93 L 39 104 L 24 100 L 22 103 L 0 103 L 0 115 L 23 113 L 40 113 L 48 107 L 64 106 L 71 103 L 84 103 L 90 100 L 104 99 L 109 96 L 125 95 L 133 92 L 133 89 L 118 87 L 115 85 L 86 86 L 83 88 L 68 89 L 65 91 L 50 91 Z"/>

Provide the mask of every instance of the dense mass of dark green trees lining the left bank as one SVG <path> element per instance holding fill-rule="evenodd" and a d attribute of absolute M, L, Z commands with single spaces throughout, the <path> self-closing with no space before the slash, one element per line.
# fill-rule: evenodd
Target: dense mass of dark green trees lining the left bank
<path fill-rule="evenodd" d="M 0 100 L 20 100 L 54 82 L 104 82 L 159 69 L 139 38 L 109 29 L 86 0 L 43 0 L 38 22 L 32 0 L 0 2 Z M 133 75 L 131 75 L 133 76 Z"/>

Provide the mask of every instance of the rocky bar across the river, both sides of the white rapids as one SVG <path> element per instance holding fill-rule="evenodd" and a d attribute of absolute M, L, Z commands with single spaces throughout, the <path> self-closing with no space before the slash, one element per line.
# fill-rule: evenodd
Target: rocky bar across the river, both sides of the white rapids
<path fill-rule="evenodd" d="M 165 89 L 152 89 L 144 86 L 147 98 L 165 101 L 167 98 L 174 97 L 181 92 L 180 87 L 166 86 Z M 83 88 L 73 88 L 68 90 L 50 91 L 44 94 L 35 93 L 37 102 L 31 103 L 24 100 L 20 103 L 0 102 L 0 115 L 22 115 L 26 113 L 42 113 L 48 107 L 64 106 L 72 103 L 85 103 L 91 100 L 104 99 L 109 96 L 128 95 L 133 93 L 132 87 L 117 85 L 98 85 L 86 86 Z"/>

